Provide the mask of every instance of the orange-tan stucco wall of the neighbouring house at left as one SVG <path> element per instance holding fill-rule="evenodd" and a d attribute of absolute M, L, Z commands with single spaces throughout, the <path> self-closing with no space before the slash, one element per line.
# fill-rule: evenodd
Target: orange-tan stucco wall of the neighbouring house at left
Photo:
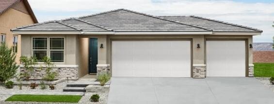
<path fill-rule="evenodd" d="M 0 15 L 0 33 L 6 34 L 6 43 L 9 46 L 13 45 L 13 35 L 10 29 L 33 24 L 32 17 L 28 14 L 17 11 L 13 8 L 8 9 L 6 12 Z M 18 52 L 16 55 L 16 62 L 19 62 L 19 57 L 21 55 L 21 36 L 18 35 Z"/>

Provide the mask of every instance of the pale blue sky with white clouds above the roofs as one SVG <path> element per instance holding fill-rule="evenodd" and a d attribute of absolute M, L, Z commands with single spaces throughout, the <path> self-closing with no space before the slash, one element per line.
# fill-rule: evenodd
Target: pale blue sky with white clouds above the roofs
<path fill-rule="evenodd" d="M 29 0 L 39 22 L 125 8 L 155 16 L 195 15 L 263 30 L 253 42 L 273 42 L 274 0 Z"/>

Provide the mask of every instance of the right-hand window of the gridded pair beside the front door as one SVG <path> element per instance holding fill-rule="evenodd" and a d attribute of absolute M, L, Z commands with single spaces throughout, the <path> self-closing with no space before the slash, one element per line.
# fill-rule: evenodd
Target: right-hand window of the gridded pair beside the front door
<path fill-rule="evenodd" d="M 51 62 L 64 62 L 64 38 L 50 37 L 49 52 Z"/>

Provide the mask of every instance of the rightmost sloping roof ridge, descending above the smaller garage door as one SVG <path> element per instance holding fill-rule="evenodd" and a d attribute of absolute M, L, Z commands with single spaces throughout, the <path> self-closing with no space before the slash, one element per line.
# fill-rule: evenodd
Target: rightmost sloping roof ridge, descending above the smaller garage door
<path fill-rule="evenodd" d="M 262 30 L 255 29 L 255 28 L 252 28 L 252 27 L 247 27 L 247 26 L 242 26 L 242 25 L 238 25 L 238 24 L 228 23 L 228 22 L 225 22 L 225 21 L 210 19 L 210 18 L 206 18 L 206 17 L 199 17 L 199 16 L 193 16 L 193 15 L 191 15 L 190 17 L 196 17 L 196 18 L 200 18 L 200 19 L 206 19 L 206 20 L 210 20 L 210 21 L 215 21 L 215 22 L 219 22 L 219 23 L 224 23 L 224 24 L 228 24 L 228 25 L 238 26 L 238 27 L 242 27 L 242 28 L 246 28 L 246 29 L 251 29 L 251 30 L 262 32 Z"/>

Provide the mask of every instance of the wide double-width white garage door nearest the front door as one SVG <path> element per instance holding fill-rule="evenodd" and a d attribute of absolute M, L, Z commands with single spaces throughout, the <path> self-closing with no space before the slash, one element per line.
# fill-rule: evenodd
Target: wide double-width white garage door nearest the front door
<path fill-rule="evenodd" d="M 113 77 L 190 77 L 190 41 L 113 41 Z"/>

